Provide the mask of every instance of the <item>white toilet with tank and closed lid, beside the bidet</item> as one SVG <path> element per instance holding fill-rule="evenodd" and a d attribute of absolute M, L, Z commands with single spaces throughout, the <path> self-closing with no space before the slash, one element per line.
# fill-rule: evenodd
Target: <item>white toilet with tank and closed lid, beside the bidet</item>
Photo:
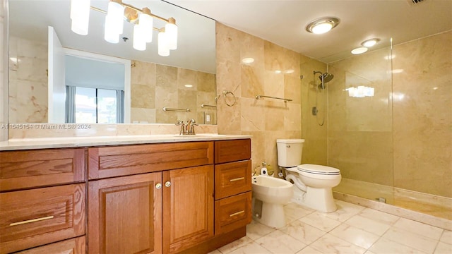
<path fill-rule="evenodd" d="M 277 139 L 276 143 L 278 166 L 285 169 L 285 179 L 296 186 L 292 201 L 321 212 L 337 210 L 331 188 L 340 183 L 340 170 L 316 164 L 301 164 L 302 139 Z"/>

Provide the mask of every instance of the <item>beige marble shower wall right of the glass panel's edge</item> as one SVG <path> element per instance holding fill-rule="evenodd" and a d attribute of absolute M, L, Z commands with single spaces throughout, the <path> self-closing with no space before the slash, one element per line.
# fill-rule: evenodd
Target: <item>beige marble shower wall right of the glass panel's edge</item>
<path fill-rule="evenodd" d="M 452 31 L 393 53 L 394 186 L 452 198 Z"/>

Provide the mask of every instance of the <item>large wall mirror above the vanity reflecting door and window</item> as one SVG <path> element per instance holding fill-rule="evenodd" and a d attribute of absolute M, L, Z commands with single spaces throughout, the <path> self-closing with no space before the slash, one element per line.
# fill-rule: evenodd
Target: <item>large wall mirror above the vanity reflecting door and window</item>
<path fill-rule="evenodd" d="M 133 49 L 126 20 L 119 43 L 106 42 L 95 8 L 109 0 L 90 1 L 88 35 L 71 31 L 71 0 L 8 1 L 10 123 L 216 123 L 215 20 L 165 1 L 123 2 L 175 18 L 177 49 L 157 54 L 157 31 Z"/>

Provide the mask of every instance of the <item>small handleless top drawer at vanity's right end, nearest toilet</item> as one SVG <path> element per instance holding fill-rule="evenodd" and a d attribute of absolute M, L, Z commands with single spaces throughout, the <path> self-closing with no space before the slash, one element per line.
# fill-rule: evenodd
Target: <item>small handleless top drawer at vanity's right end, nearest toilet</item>
<path fill-rule="evenodd" d="M 251 140 L 215 141 L 215 164 L 251 158 Z"/>

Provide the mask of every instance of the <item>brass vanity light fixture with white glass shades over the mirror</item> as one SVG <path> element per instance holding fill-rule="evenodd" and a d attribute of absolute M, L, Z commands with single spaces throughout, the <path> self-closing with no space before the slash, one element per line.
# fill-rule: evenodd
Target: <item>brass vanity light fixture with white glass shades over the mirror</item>
<path fill-rule="evenodd" d="M 159 32 L 158 53 L 169 56 L 169 50 L 177 49 L 177 25 L 174 18 L 162 18 L 150 12 L 149 8 L 139 9 L 121 0 L 109 0 L 108 10 L 90 6 L 90 0 L 71 0 L 71 30 L 78 35 L 88 35 L 90 9 L 107 14 L 105 16 L 104 39 L 118 43 L 124 30 L 124 20 L 133 24 L 133 48 L 145 50 L 146 43 L 152 42 L 153 30 Z M 154 28 L 153 18 L 166 22 L 165 28 Z M 161 38 L 161 39 L 160 39 Z"/>

